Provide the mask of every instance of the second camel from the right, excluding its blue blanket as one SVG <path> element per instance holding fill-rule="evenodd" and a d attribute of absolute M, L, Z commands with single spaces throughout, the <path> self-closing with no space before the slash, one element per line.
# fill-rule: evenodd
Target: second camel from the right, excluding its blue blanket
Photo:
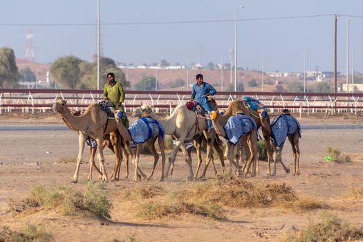
<path fill-rule="evenodd" d="M 216 112 L 212 112 L 212 123 L 214 126 L 214 129 L 216 129 L 216 133 L 218 135 L 226 137 L 225 130 L 223 127 L 227 123 L 227 120 L 234 115 L 233 113 L 243 113 L 243 111 L 238 111 L 239 106 L 241 106 L 240 100 L 234 100 L 230 102 L 230 105 L 227 108 L 227 111 L 223 115 L 218 115 Z M 252 176 L 256 175 L 256 164 L 257 164 L 257 156 L 258 156 L 258 149 L 257 149 L 257 130 L 251 129 L 249 133 L 244 134 L 241 136 L 239 142 L 236 143 L 236 145 L 233 145 L 231 142 L 227 142 L 227 158 L 230 160 L 230 171 L 232 171 L 232 165 L 236 167 L 236 173 L 237 175 L 240 174 L 240 168 L 239 168 L 239 153 L 241 150 L 241 145 L 243 147 L 248 147 L 249 155 L 248 155 L 248 162 L 245 162 L 245 165 L 243 166 L 243 172 L 244 174 L 248 174 L 250 165 L 253 161 L 253 167 L 252 167 Z M 233 154 L 234 154 L 234 148 L 236 147 L 236 162 L 233 160 Z M 247 165 L 247 167 L 246 167 Z M 245 169 L 246 168 L 246 169 Z"/>

